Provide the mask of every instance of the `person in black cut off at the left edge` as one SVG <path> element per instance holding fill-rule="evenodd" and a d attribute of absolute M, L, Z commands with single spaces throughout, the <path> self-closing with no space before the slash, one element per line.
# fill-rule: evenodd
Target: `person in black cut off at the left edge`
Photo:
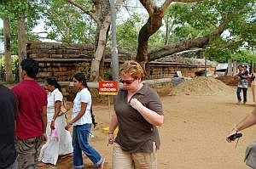
<path fill-rule="evenodd" d="M 0 85 L 0 96 L 0 168 L 18 169 L 15 150 L 15 94 L 8 87 Z"/>

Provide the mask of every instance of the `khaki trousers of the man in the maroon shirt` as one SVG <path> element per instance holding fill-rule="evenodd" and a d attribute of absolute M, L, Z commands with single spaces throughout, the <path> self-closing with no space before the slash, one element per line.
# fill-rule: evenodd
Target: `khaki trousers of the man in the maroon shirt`
<path fill-rule="evenodd" d="M 43 143 L 43 137 L 29 139 L 15 139 L 15 149 L 18 153 L 20 169 L 38 168 L 38 148 Z"/>

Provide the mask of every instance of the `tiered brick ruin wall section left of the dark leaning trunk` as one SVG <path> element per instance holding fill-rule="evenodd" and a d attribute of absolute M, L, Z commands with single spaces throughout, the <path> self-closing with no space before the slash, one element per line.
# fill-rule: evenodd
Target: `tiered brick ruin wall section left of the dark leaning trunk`
<path fill-rule="evenodd" d="M 55 76 L 58 81 L 71 81 L 81 63 L 89 63 L 94 48 L 90 45 L 64 44 L 54 42 L 27 43 L 27 58 L 36 59 L 39 64 L 38 81 L 44 82 L 45 77 Z M 110 67 L 111 51 L 105 51 L 106 69 Z M 120 60 L 134 59 L 135 54 L 125 50 L 119 51 Z"/>

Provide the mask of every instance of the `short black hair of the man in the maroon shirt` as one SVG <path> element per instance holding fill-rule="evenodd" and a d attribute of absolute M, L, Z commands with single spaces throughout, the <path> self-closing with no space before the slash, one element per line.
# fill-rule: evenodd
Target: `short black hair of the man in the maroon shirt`
<path fill-rule="evenodd" d="M 21 69 L 26 71 L 27 76 L 35 78 L 38 74 L 38 62 L 31 58 L 23 59 Z"/>

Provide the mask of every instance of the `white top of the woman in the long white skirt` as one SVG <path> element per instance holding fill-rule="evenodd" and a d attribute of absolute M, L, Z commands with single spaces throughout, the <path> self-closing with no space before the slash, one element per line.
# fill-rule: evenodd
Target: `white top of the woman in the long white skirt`
<path fill-rule="evenodd" d="M 55 115 L 55 102 L 62 102 L 63 95 L 58 88 L 48 94 L 47 97 L 47 122 L 50 122 Z"/>

